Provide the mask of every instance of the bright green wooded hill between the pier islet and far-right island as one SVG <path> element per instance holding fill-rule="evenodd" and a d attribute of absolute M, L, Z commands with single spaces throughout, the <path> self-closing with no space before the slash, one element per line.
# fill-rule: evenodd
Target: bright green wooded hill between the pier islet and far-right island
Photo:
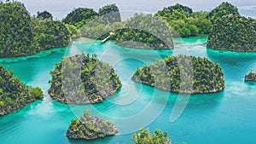
<path fill-rule="evenodd" d="M 178 3 L 158 11 L 155 15 L 172 26 L 175 37 L 208 34 L 212 29 L 212 22 L 207 19 L 207 12 L 193 12 L 189 7 Z"/>

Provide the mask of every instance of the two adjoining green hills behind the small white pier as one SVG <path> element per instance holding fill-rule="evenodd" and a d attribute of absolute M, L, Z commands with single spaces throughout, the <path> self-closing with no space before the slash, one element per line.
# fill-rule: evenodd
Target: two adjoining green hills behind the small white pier
<path fill-rule="evenodd" d="M 83 12 L 85 14 L 83 14 Z M 81 14 L 83 16 L 81 16 Z M 111 26 L 116 26 L 114 23 L 123 23 L 121 21 L 119 9 L 115 4 L 108 4 L 99 9 L 97 14 L 93 9 L 79 8 L 67 14 L 67 17 L 62 20 L 68 24 L 68 28 L 75 37 L 90 37 L 102 39 L 108 37 L 109 32 L 113 30 Z M 75 28 L 75 27 L 76 28 Z"/>

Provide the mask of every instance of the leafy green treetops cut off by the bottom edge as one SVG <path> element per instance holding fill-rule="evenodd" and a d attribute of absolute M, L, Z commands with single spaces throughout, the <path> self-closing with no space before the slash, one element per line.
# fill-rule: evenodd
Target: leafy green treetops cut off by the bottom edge
<path fill-rule="evenodd" d="M 135 144 L 171 144 L 168 133 L 160 130 L 154 130 L 154 133 L 149 133 L 148 130 L 140 129 L 132 135 L 131 141 Z"/>

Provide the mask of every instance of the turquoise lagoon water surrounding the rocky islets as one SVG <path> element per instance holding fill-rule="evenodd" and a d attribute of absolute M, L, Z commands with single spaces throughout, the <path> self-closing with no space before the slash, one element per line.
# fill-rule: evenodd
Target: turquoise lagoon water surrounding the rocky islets
<path fill-rule="evenodd" d="M 113 42 L 102 44 L 78 40 L 72 45 L 26 57 L 0 59 L 0 64 L 15 71 L 26 84 L 44 89 L 44 101 L 36 101 L 0 118 L 1 144 L 106 144 L 126 143 L 139 128 L 166 130 L 172 142 L 187 144 L 254 143 L 256 134 L 256 84 L 245 83 L 244 75 L 256 71 L 256 54 L 218 51 L 206 48 L 207 37 L 175 39 L 174 50 L 129 49 Z M 49 71 L 63 55 L 81 51 L 97 54 L 110 63 L 123 84 L 101 104 L 66 105 L 47 94 Z M 169 94 L 131 80 L 137 67 L 163 59 L 166 55 L 197 55 L 218 62 L 224 71 L 226 88 L 208 95 L 191 95 L 181 116 L 171 122 L 175 106 L 186 102 L 185 95 Z M 177 99 L 179 100 L 176 105 Z M 91 114 L 108 119 L 119 134 L 96 141 L 70 141 L 66 130 L 71 119 L 90 108 Z"/>

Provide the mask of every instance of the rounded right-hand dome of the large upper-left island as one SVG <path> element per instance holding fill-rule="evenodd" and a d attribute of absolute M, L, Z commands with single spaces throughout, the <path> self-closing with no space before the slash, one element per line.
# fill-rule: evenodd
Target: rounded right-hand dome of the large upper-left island
<path fill-rule="evenodd" d="M 34 20 L 32 30 L 40 49 L 61 48 L 71 42 L 70 32 L 61 21 Z"/>

